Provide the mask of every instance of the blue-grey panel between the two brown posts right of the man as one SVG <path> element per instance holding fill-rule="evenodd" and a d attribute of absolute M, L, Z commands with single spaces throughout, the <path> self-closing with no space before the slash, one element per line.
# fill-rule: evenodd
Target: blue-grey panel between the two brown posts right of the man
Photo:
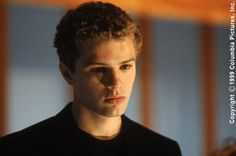
<path fill-rule="evenodd" d="M 202 155 L 198 25 L 157 21 L 153 29 L 156 130 L 177 140 L 183 155 Z"/>

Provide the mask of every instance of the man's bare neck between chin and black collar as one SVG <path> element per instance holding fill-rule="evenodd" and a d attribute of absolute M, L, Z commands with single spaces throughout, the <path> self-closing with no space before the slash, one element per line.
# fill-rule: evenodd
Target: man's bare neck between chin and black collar
<path fill-rule="evenodd" d="M 120 132 L 120 116 L 102 116 L 78 103 L 73 103 L 72 114 L 77 121 L 78 127 L 97 139 L 109 140 Z"/>

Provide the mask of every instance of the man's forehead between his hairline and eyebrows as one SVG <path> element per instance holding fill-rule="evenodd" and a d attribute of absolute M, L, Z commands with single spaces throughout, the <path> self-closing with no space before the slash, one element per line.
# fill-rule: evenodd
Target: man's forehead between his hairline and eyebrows
<path fill-rule="evenodd" d="M 78 62 L 81 64 L 89 62 L 115 64 L 132 58 L 136 58 L 134 42 L 132 38 L 126 37 L 103 42 L 87 41 Z"/>

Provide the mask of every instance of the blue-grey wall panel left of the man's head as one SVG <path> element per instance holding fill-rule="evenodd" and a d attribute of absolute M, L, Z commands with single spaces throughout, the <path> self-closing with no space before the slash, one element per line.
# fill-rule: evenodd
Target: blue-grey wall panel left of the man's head
<path fill-rule="evenodd" d="M 8 133 L 55 115 L 67 90 L 53 48 L 63 9 L 13 5 L 10 20 Z"/>

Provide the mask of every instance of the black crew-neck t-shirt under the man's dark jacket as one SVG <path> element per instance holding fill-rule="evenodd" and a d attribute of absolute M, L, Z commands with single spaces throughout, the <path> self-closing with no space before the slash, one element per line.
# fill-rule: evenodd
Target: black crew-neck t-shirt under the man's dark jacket
<path fill-rule="evenodd" d="M 80 130 L 82 131 L 82 130 Z M 84 147 L 89 156 L 117 156 L 120 150 L 121 133 L 110 140 L 96 139 L 82 131 Z"/>

